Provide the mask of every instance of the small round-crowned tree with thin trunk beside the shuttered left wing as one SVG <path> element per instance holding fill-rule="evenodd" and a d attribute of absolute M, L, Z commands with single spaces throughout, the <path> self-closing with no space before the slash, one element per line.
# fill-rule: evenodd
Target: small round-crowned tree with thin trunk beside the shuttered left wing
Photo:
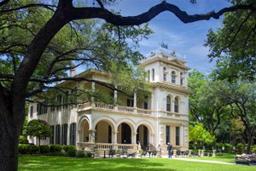
<path fill-rule="evenodd" d="M 51 129 L 49 127 L 49 124 L 46 123 L 43 120 L 39 119 L 33 119 L 29 123 L 27 123 L 27 134 L 37 137 L 38 140 L 38 151 L 40 154 L 40 140 L 42 137 L 50 137 L 51 134 Z"/>

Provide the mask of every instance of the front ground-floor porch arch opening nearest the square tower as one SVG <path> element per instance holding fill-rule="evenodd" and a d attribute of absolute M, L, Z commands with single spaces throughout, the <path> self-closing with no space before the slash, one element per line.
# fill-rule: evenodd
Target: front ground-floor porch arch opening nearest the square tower
<path fill-rule="evenodd" d="M 148 145 L 149 145 L 149 136 L 148 136 L 148 128 L 145 125 L 140 125 L 137 128 L 137 139 L 136 142 L 137 144 L 140 143 L 142 146 L 142 149 L 148 150 Z"/>

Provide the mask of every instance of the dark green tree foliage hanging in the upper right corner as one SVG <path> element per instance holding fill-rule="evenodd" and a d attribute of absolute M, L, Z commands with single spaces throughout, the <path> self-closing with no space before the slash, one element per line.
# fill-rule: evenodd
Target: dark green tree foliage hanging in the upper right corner
<path fill-rule="evenodd" d="M 252 0 L 234 1 L 247 4 Z M 237 10 L 224 14 L 223 25 L 217 31 L 210 30 L 205 44 L 211 50 L 209 58 L 217 60 L 214 70 L 218 78 L 243 77 L 255 79 L 256 74 L 256 13 L 251 10 Z"/>

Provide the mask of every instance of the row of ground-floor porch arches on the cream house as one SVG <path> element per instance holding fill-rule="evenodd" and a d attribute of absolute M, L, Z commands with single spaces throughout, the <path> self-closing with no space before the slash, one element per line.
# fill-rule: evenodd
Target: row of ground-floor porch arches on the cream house
<path fill-rule="evenodd" d="M 79 141 L 109 144 L 141 144 L 143 149 L 150 145 L 149 135 L 152 134 L 150 128 L 140 124 L 135 128 L 130 123 L 119 123 L 116 127 L 108 120 L 101 120 L 96 123 L 95 129 L 90 129 L 88 120 L 83 119 L 79 126 Z"/>

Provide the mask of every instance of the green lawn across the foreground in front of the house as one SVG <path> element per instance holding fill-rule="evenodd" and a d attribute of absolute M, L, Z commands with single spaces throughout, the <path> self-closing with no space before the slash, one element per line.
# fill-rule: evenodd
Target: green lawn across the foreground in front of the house
<path fill-rule="evenodd" d="M 203 157 L 200 157 L 201 159 Z M 187 162 L 167 158 L 71 158 L 27 156 L 19 157 L 19 171 L 65 171 L 65 170 L 103 170 L 103 171 L 255 171 L 256 167 L 241 165 L 224 165 L 205 162 Z"/>

